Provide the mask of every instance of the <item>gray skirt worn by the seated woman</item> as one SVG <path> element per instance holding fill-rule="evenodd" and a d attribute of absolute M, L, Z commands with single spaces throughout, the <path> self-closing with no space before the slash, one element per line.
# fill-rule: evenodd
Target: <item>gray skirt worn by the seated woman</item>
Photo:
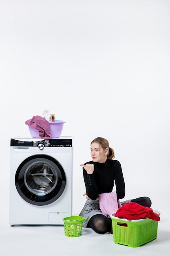
<path fill-rule="evenodd" d="M 130 203 L 131 200 L 132 199 L 126 200 L 126 201 L 123 201 L 123 202 L 120 202 L 120 203 L 121 203 L 121 205 L 123 205 L 125 203 Z M 100 210 L 99 201 L 94 201 L 94 200 L 91 200 L 91 199 L 86 200 L 82 211 L 79 213 L 79 216 L 82 216 L 82 217 L 85 218 L 85 220 L 83 222 L 83 227 L 87 227 L 88 222 L 91 219 L 91 217 L 93 217 L 96 214 L 104 215 L 104 213 L 102 213 L 102 211 Z M 110 218 L 110 217 L 108 217 L 108 218 Z"/>

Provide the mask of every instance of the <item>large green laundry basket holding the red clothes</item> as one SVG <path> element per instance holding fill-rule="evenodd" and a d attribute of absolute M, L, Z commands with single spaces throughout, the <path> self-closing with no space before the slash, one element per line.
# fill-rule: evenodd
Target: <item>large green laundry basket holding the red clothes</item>
<path fill-rule="evenodd" d="M 154 211 L 158 215 L 160 212 Z M 152 219 L 127 220 L 110 215 L 115 244 L 139 247 L 157 238 L 158 221 Z"/>

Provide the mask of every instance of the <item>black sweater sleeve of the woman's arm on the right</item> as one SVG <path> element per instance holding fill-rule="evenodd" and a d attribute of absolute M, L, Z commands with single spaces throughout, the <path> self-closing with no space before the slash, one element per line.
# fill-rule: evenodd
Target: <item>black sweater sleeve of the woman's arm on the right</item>
<path fill-rule="evenodd" d="M 121 169 L 121 164 L 119 163 L 119 161 L 117 161 L 117 166 L 115 168 L 115 185 L 116 185 L 117 199 L 124 198 L 125 182 L 124 182 L 124 176 Z"/>

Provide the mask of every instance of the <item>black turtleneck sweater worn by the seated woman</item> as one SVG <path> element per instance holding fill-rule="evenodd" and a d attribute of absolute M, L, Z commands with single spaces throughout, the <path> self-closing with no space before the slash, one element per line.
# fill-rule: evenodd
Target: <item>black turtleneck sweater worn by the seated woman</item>
<path fill-rule="evenodd" d="M 84 165 L 86 164 L 94 164 L 95 167 L 93 174 L 88 174 L 83 168 L 84 183 L 89 198 L 96 200 L 99 194 L 112 192 L 114 184 L 117 199 L 124 198 L 125 184 L 119 161 L 107 159 L 102 164 L 93 161 L 86 162 Z"/>

